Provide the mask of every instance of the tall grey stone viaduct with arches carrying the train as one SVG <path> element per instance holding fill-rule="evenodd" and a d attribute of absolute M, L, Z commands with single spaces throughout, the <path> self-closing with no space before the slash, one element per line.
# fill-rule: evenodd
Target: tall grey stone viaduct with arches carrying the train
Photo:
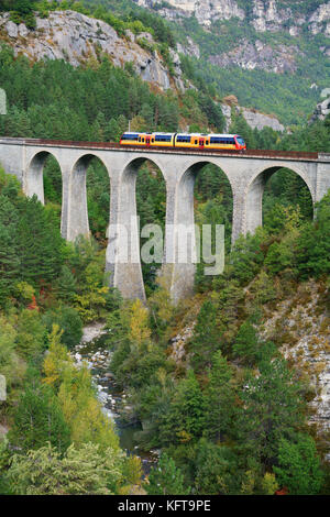
<path fill-rule="evenodd" d="M 233 195 L 232 241 L 241 233 L 254 232 L 262 224 L 262 198 L 267 179 L 279 168 L 298 174 L 309 188 L 312 202 L 330 188 L 330 154 L 249 151 L 245 154 L 189 150 L 123 148 L 111 143 L 75 143 L 28 139 L 0 139 L 0 163 L 22 183 L 26 196 L 36 195 L 44 202 L 43 167 L 53 155 L 62 170 L 62 235 L 74 241 L 89 234 L 86 172 L 91 158 L 106 166 L 111 187 L 109 222 L 118 228 L 109 239 L 106 270 L 111 285 L 125 298 L 145 298 L 139 237 L 133 238 L 129 261 L 116 258 L 123 245 L 122 228 L 133 232 L 136 224 L 135 183 L 141 164 L 150 160 L 164 176 L 167 190 L 166 228 L 194 223 L 194 184 L 206 164 L 215 164 L 227 175 Z M 174 300 L 188 296 L 194 285 L 195 265 L 177 263 L 178 242 L 165 232 L 166 262 L 170 266 L 170 292 Z M 135 235 L 133 232 L 132 234 Z M 110 258 L 109 258 L 110 257 Z"/>

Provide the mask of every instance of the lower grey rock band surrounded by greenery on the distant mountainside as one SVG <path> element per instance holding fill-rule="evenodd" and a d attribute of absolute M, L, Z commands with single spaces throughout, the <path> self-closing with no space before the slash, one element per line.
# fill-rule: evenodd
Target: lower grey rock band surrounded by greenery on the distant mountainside
<path fill-rule="evenodd" d="M 209 61 L 221 67 L 240 66 L 250 70 L 260 68 L 283 74 L 297 69 L 295 56 L 299 53 L 297 46 L 279 45 L 274 50 L 258 40 L 254 44 L 243 40 L 237 48 L 221 55 L 210 56 Z"/>

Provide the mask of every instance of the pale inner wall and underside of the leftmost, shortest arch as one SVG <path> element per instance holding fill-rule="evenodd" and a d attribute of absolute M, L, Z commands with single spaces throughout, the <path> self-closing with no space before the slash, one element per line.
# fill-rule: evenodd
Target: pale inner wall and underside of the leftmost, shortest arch
<path fill-rule="evenodd" d="M 24 182 L 24 191 L 26 196 L 32 197 L 36 196 L 37 199 L 44 205 L 45 194 L 44 194 L 44 178 L 43 170 L 46 160 L 52 156 L 56 160 L 61 174 L 63 175 L 62 166 L 57 156 L 50 151 L 38 151 L 30 161 L 26 168 L 26 176 Z"/>

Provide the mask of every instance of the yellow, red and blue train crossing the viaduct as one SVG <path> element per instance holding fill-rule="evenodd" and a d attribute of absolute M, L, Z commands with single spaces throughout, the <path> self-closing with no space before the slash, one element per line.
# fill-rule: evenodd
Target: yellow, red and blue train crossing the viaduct
<path fill-rule="evenodd" d="M 239 134 L 201 133 L 139 133 L 125 132 L 120 139 L 121 145 L 142 147 L 186 147 L 197 150 L 246 150 L 244 139 Z"/>

